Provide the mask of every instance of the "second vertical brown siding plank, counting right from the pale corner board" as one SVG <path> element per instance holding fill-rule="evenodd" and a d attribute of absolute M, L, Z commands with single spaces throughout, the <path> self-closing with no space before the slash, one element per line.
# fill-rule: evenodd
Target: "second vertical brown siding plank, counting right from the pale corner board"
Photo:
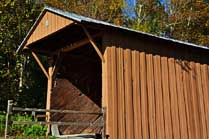
<path fill-rule="evenodd" d="M 125 132 L 125 94 L 124 94 L 124 55 L 123 49 L 117 48 L 117 82 L 118 82 L 118 138 L 126 139 Z"/>

